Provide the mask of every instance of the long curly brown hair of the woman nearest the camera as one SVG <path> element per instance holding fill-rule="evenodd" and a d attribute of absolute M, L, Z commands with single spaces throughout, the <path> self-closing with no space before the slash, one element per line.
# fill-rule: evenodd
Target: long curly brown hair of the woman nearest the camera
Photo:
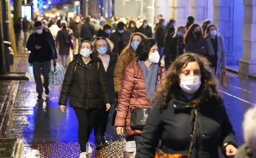
<path fill-rule="evenodd" d="M 201 71 L 201 86 L 190 101 L 193 107 L 200 107 L 205 101 L 213 98 L 217 105 L 223 105 L 223 99 L 217 90 L 217 83 L 213 74 L 209 70 L 209 62 L 205 57 L 201 57 L 195 53 L 185 53 L 175 59 L 167 72 L 167 76 L 161 87 L 156 91 L 153 102 L 159 94 L 163 96 L 163 105 L 159 108 L 167 108 L 173 95 L 181 95 L 182 89 L 179 86 L 179 74 L 189 62 L 197 62 Z"/>

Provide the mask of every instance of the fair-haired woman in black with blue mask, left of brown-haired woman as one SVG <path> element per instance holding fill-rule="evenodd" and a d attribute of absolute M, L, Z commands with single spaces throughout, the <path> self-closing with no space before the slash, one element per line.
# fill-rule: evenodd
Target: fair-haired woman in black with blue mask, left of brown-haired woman
<path fill-rule="evenodd" d="M 180 25 L 177 32 L 173 35 L 170 44 L 170 60 L 173 62 L 176 57 L 185 53 L 185 45 L 183 43 L 184 35 L 186 34 L 186 26 Z"/>

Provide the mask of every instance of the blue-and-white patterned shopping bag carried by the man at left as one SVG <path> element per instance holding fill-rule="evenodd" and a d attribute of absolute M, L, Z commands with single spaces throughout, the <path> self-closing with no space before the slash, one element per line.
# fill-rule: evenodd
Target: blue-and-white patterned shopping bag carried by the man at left
<path fill-rule="evenodd" d="M 49 73 L 49 86 L 56 86 L 63 82 L 65 76 L 65 68 L 58 64 L 54 64 L 54 69 Z"/>

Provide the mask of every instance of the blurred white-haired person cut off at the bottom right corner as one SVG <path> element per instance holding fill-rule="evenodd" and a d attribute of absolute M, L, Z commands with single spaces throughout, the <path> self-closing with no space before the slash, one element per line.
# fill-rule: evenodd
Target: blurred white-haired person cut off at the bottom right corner
<path fill-rule="evenodd" d="M 256 158 L 256 107 L 244 114 L 242 127 L 245 144 L 238 148 L 235 158 Z"/>

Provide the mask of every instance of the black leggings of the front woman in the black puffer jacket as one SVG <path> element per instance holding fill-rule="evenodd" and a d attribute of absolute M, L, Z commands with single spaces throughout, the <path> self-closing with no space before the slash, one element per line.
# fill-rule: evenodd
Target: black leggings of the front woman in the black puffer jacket
<path fill-rule="evenodd" d="M 86 143 L 93 130 L 93 123 L 98 109 L 84 110 L 81 108 L 74 108 L 74 112 L 76 113 L 78 120 L 78 140 L 80 150 L 81 152 L 86 152 Z"/>

